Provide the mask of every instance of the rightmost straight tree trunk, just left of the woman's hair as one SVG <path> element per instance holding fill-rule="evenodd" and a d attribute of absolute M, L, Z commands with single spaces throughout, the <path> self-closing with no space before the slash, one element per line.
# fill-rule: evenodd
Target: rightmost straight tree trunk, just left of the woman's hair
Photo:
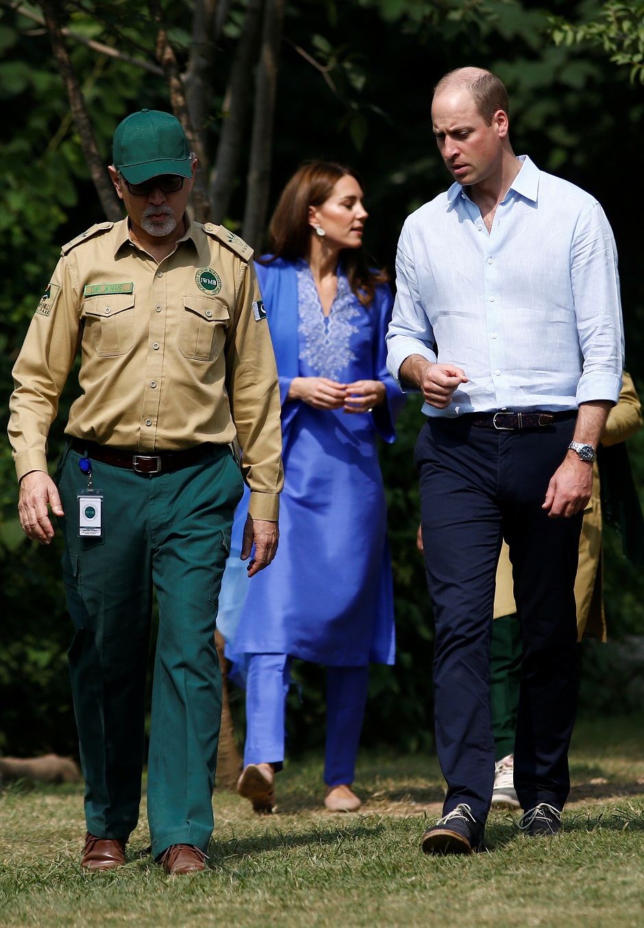
<path fill-rule="evenodd" d="M 273 122 L 277 94 L 277 64 L 282 38 L 284 0 L 266 0 L 262 53 L 255 74 L 251 161 L 242 237 L 252 248 L 262 247 L 273 151 Z"/>

